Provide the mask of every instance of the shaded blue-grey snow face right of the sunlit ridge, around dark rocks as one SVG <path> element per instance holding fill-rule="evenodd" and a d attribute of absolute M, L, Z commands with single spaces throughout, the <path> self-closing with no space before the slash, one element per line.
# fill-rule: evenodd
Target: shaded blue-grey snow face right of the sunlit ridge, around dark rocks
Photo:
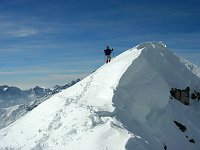
<path fill-rule="evenodd" d="M 200 133 L 200 120 L 192 119 L 199 116 L 198 109 L 177 106 L 177 102 L 170 99 L 169 91 L 171 87 L 197 87 L 200 79 L 165 47 L 156 43 L 145 44 L 137 47 L 143 49 L 142 53 L 122 75 L 113 96 L 116 118 L 129 132 L 138 135 L 129 139 L 126 148 L 149 150 L 163 149 L 168 145 L 169 149 L 197 149 L 200 144 L 185 142 L 184 135 L 173 127 L 173 120 L 187 122 L 188 132 L 195 133 L 190 136 L 200 140 L 196 134 Z M 194 105 L 200 107 L 198 103 Z M 193 112 L 193 116 L 188 112 Z M 191 120 L 195 127 L 191 127 Z"/>

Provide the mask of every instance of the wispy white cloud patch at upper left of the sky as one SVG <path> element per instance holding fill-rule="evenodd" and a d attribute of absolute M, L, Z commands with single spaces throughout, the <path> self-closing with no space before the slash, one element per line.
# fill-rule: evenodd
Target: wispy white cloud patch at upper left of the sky
<path fill-rule="evenodd" d="M 60 32 L 57 26 L 57 23 L 45 21 L 44 18 L 40 17 L 0 14 L 0 39 L 28 37 L 40 33 L 57 33 Z"/>

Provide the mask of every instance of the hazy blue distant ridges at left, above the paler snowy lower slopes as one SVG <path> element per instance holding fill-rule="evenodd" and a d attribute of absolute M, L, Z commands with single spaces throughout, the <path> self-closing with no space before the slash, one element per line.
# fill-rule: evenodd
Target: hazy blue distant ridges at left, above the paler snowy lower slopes
<path fill-rule="evenodd" d="M 42 88 L 36 86 L 29 90 L 21 90 L 18 87 L 10 87 L 7 85 L 0 86 L 0 108 L 12 107 L 15 105 L 29 103 L 36 99 L 48 97 L 49 95 L 58 93 L 79 81 L 80 79 L 77 79 L 63 86 L 56 85 L 53 88 Z"/>

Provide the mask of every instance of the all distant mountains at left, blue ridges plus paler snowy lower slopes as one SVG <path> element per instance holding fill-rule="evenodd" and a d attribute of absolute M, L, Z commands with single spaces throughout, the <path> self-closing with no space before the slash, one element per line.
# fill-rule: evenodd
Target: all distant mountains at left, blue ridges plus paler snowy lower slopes
<path fill-rule="evenodd" d="M 0 86 L 0 129 L 24 116 L 54 94 L 79 81 L 80 79 L 73 80 L 63 86 L 56 85 L 51 89 L 36 86 L 33 89 L 21 90 L 13 86 Z"/>

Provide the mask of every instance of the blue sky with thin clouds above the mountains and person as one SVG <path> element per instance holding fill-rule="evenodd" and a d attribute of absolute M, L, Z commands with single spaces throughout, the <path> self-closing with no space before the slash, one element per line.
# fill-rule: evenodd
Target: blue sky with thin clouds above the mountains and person
<path fill-rule="evenodd" d="M 200 66 L 199 0 L 0 0 L 0 85 L 51 87 L 85 77 L 145 41 Z"/>

